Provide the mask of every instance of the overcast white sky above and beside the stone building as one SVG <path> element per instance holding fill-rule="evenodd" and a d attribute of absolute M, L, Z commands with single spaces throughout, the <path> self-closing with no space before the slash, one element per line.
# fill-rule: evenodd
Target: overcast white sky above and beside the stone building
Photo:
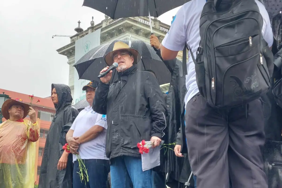
<path fill-rule="evenodd" d="M 104 14 L 81 6 L 83 0 L 13 0 L 0 6 L 0 88 L 38 97 L 50 96 L 51 83 L 68 84 L 67 57 L 56 49 L 70 43 L 81 21 L 84 30 L 91 17 L 100 23 Z M 169 24 L 179 8 L 159 17 Z"/>

